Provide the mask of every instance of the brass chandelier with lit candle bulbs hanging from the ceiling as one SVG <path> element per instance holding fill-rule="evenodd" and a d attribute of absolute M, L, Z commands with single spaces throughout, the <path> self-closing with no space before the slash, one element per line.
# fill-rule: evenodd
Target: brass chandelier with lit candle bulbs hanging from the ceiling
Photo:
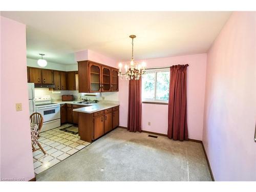
<path fill-rule="evenodd" d="M 125 76 L 126 80 L 131 80 L 134 79 L 135 80 L 139 80 L 140 77 L 142 77 L 142 75 L 145 73 L 145 66 L 146 63 L 145 62 L 141 62 L 141 63 L 137 63 L 134 61 L 134 57 L 133 57 L 133 39 L 136 37 L 136 35 L 130 35 L 130 38 L 132 38 L 132 59 L 130 62 L 130 66 L 126 65 L 124 66 L 124 70 L 125 72 L 122 72 L 122 63 L 119 63 L 119 71 L 118 71 L 118 76 L 121 77 Z"/>

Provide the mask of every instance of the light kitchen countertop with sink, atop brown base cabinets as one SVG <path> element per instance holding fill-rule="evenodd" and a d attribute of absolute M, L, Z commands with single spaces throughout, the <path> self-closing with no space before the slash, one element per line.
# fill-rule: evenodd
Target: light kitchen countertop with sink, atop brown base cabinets
<path fill-rule="evenodd" d="M 69 104 L 77 104 L 77 105 L 84 105 L 83 108 L 74 109 L 73 111 L 80 112 L 80 113 L 95 113 L 101 110 L 106 110 L 109 108 L 114 108 L 114 106 L 119 106 L 119 103 L 105 103 L 105 102 L 98 102 L 98 103 L 90 103 L 90 104 L 83 104 L 83 103 L 76 103 L 79 101 L 57 101 L 56 103 L 69 103 Z"/>

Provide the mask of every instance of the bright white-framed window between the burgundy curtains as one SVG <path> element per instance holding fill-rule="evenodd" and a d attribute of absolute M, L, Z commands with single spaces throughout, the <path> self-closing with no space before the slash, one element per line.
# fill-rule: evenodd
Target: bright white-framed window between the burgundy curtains
<path fill-rule="evenodd" d="M 142 77 L 142 101 L 168 102 L 169 68 L 147 69 Z"/>

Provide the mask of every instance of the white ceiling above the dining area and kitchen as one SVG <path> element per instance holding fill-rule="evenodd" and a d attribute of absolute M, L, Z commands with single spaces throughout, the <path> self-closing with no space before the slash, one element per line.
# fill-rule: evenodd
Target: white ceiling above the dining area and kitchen
<path fill-rule="evenodd" d="M 231 12 L 1 12 L 27 25 L 27 57 L 75 64 L 90 49 L 118 60 L 206 53 Z"/>

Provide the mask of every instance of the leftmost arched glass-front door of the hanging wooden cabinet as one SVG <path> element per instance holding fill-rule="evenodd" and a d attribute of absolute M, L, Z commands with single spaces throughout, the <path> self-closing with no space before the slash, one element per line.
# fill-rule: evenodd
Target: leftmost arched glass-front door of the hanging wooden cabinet
<path fill-rule="evenodd" d="M 101 92 L 101 66 L 96 63 L 89 63 L 90 93 Z"/>

